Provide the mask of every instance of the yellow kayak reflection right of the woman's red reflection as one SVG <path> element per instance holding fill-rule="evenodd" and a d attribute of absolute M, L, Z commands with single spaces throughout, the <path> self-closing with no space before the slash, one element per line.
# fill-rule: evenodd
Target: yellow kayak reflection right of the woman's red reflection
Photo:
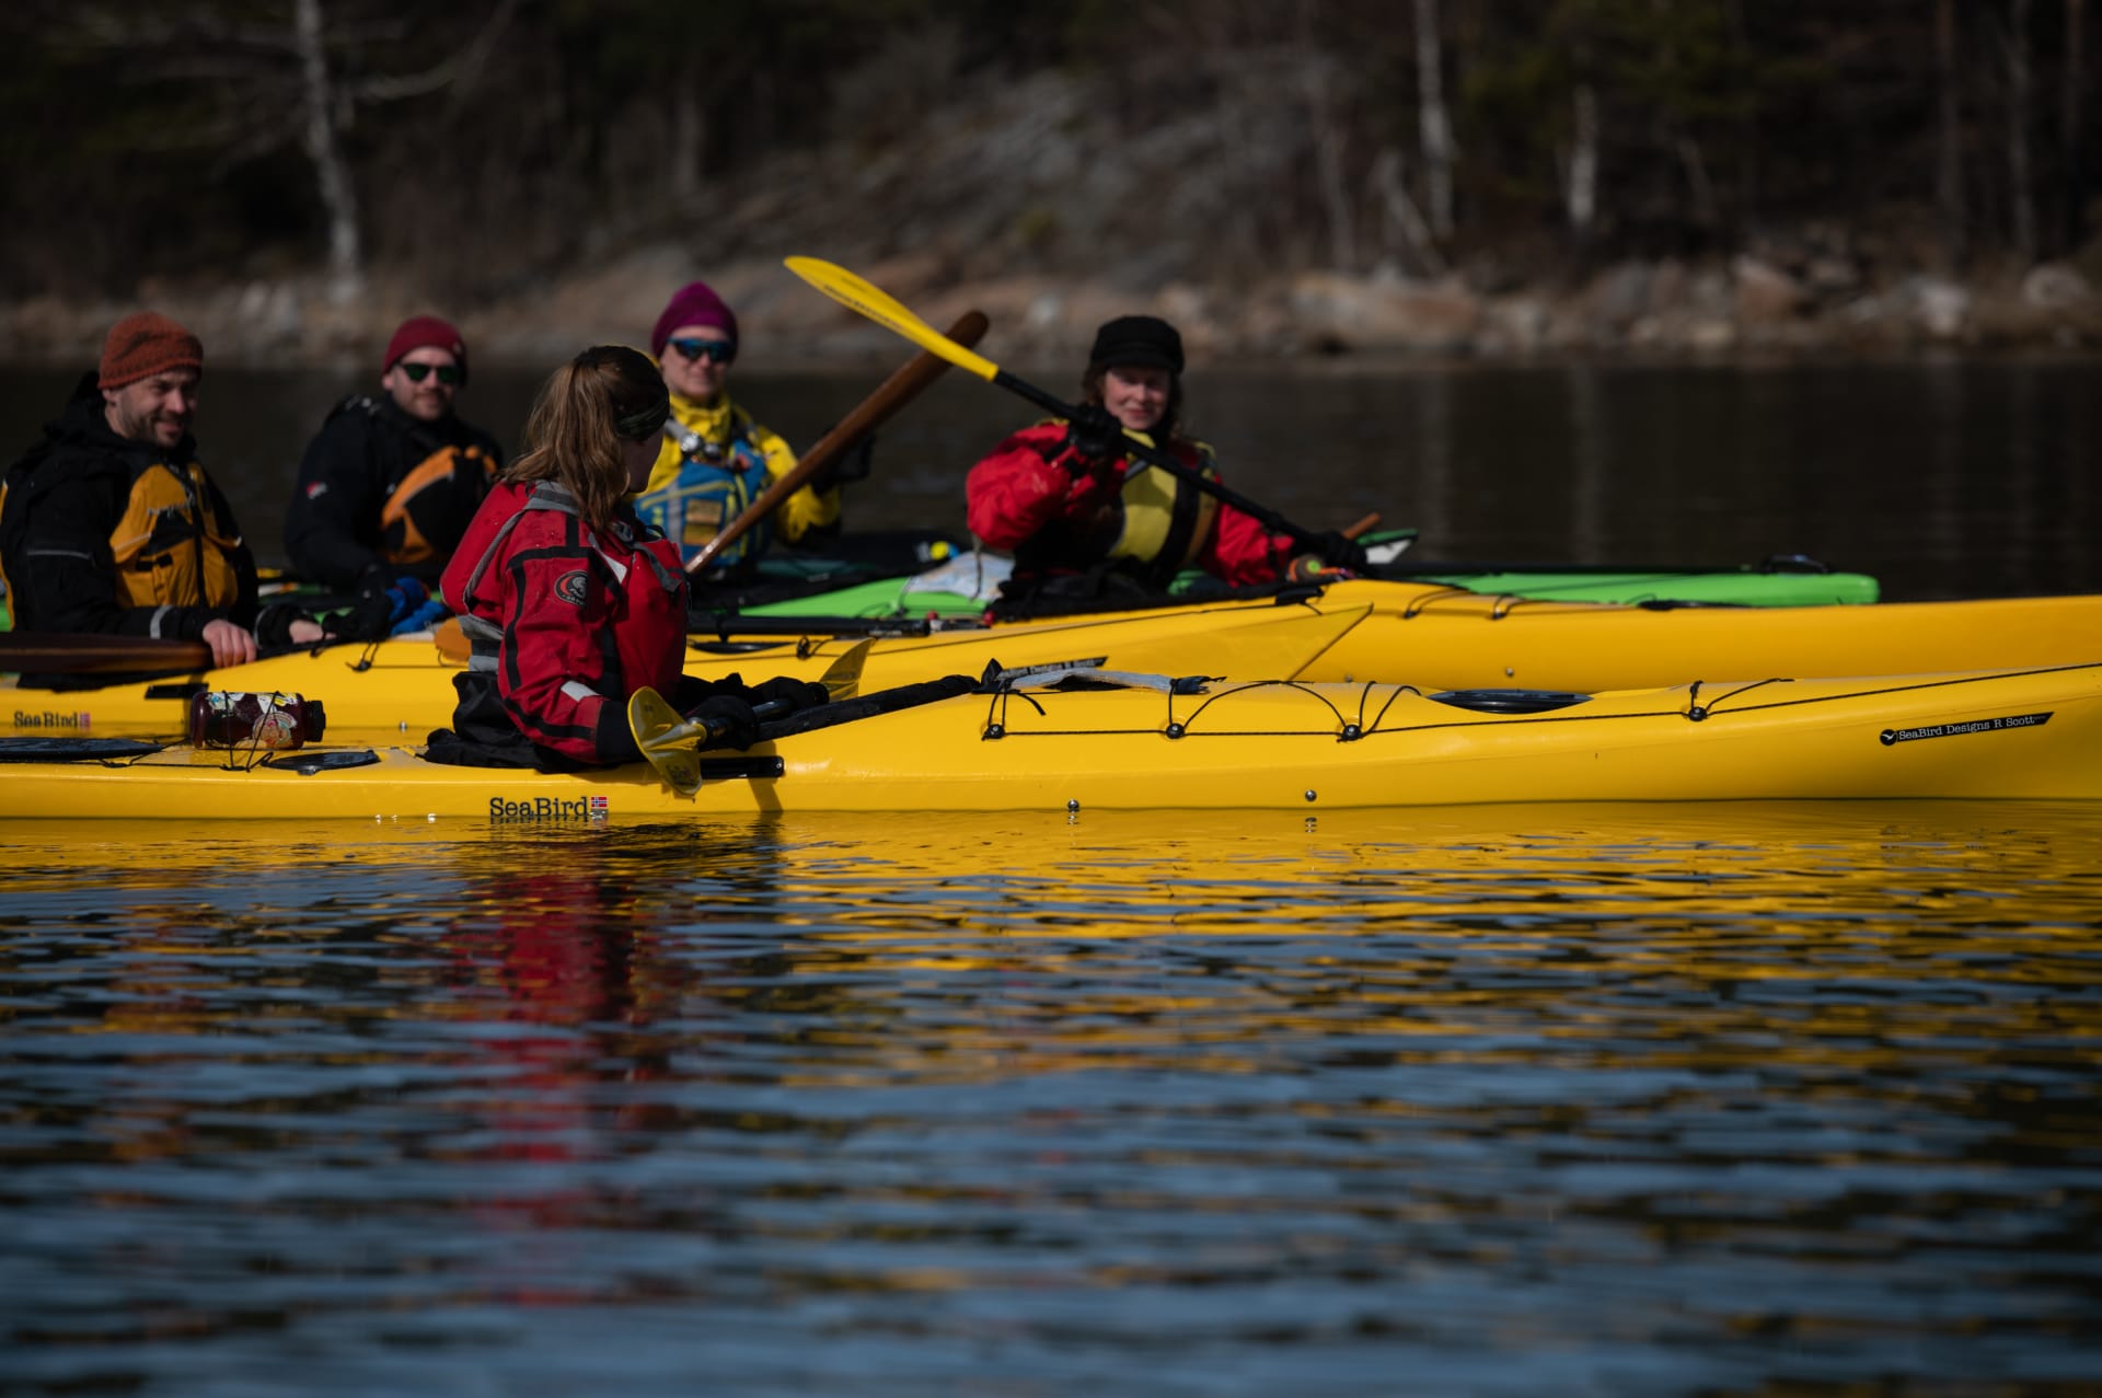
<path fill-rule="evenodd" d="M 2083 807 L 834 822 L 776 841 L 782 891 L 816 904 L 795 971 L 889 978 L 837 992 L 807 1064 L 832 1083 L 845 1045 L 866 1078 L 961 1083 L 1167 1053 L 1253 1074 L 1278 1068 L 1263 1045 L 1307 1041 L 1377 1043 L 1381 1062 L 1566 1043 L 1595 1066 L 1839 1074 L 1917 1066 L 1923 1043 L 2102 1043 L 2102 1003 L 2081 994 L 2102 969 Z M 881 1032 L 879 1007 L 959 978 L 982 1013 Z M 1513 1026 L 1524 1043 L 1501 1043 Z"/>

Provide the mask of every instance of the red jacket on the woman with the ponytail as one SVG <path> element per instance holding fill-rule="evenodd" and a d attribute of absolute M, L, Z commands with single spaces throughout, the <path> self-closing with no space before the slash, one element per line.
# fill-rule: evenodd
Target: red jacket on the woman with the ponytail
<path fill-rule="evenodd" d="M 677 544 L 631 505 L 601 532 L 555 481 L 504 481 L 441 587 L 473 645 L 454 679 L 454 734 L 483 748 L 458 761 L 492 761 L 488 748 L 557 769 L 641 761 L 628 696 L 643 685 L 675 694 L 685 660 Z"/>

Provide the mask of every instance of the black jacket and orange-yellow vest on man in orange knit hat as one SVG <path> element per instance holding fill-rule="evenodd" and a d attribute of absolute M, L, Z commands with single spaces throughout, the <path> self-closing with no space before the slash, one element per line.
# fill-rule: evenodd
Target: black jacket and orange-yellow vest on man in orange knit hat
<path fill-rule="evenodd" d="M 95 374 L 0 486 L 0 584 L 17 631 L 193 641 L 254 626 L 256 568 L 195 441 L 109 429 Z"/>

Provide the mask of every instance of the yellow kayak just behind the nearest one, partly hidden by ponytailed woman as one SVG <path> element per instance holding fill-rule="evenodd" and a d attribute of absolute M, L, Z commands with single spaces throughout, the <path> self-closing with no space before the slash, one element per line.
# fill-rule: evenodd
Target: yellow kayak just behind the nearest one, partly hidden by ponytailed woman
<path fill-rule="evenodd" d="M 851 637 L 692 637 L 687 673 L 816 679 Z M 877 637 L 864 685 L 1095 660 L 1165 675 L 1392 681 L 1417 687 L 1640 690 L 1770 675 L 1919 675 L 2102 660 L 2102 595 L 1831 608 L 1606 605 L 1354 580 L 1291 603 L 1190 603 Z M 332 647 L 158 685 L 19 690 L 17 734 L 177 734 L 189 692 L 320 698 L 332 732 L 420 738 L 452 721 L 450 660 L 429 639 Z"/>

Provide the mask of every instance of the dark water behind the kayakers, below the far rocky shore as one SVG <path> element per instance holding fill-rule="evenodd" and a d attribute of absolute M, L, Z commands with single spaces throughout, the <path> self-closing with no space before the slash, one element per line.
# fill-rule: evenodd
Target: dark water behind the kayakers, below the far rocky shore
<path fill-rule="evenodd" d="M 1017 366 L 1072 391 L 1072 368 Z M 887 372 L 763 374 L 738 395 L 807 446 Z M 477 366 L 460 410 L 507 448 L 544 366 Z M 198 437 L 263 561 L 343 372 L 212 368 Z M 2102 366 L 1202 366 L 1192 431 L 1228 481 L 1310 528 L 1368 511 L 1469 561 L 1755 563 L 1806 553 L 1890 599 L 2102 591 Z M 0 370 L 0 450 L 71 376 Z M 1034 410 L 950 374 L 877 444 L 853 528 L 963 530 L 963 475 Z"/>

